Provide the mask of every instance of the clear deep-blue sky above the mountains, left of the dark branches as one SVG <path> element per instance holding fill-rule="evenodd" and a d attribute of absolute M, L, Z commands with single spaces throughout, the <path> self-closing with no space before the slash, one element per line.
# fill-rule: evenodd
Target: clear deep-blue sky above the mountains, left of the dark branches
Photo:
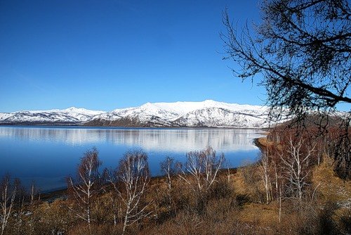
<path fill-rule="evenodd" d="M 0 112 L 146 102 L 263 104 L 223 61 L 222 11 L 257 1 L 0 1 Z"/>

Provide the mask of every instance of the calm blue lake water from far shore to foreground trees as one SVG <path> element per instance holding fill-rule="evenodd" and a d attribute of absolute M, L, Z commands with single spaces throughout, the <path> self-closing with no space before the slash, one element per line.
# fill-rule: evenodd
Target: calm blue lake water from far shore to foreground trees
<path fill-rule="evenodd" d="M 259 149 L 253 139 L 260 129 L 138 129 L 104 127 L 0 127 L 0 177 L 9 172 L 22 183 L 34 181 L 41 191 L 62 189 L 66 177 L 75 175 L 79 159 L 98 148 L 102 167 L 116 167 L 124 153 L 143 149 L 152 175 L 161 174 L 159 163 L 171 156 L 184 161 L 185 154 L 212 146 L 224 153 L 231 167 L 256 160 Z"/>

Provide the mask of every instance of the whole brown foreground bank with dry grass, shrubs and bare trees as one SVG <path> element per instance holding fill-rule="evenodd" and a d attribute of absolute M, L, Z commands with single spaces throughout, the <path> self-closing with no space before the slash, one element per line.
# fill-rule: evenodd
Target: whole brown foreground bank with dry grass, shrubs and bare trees
<path fill-rule="evenodd" d="M 238 169 L 224 169 L 212 148 L 185 163 L 166 158 L 165 177 L 156 178 L 140 151 L 99 172 L 93 149 L 67 193 L 50 202 L 5 177 L 1 235 L 350 234 L 351 182 L 334 171 L 332 146 L 310 139 L 271 132 L 257 141 L 260 161 Z"/>

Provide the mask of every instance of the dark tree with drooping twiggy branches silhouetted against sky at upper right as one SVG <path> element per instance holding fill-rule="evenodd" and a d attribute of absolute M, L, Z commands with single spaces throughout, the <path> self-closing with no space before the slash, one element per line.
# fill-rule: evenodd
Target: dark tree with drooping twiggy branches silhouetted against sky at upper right
<path fill-rule="evenodd" d="M 307 117 L 326 131 L 338 103 L 351 104 L 351 10 L 347 0 L 263 0 L 262 23 L 238 28 L 225 11 L 225 58 L 238 63 L 241 79 L 263 75 L 270 120 L 283 115 L 304 127 Z M 340 115 L 338 115 L 340 117 Z M 311 118 L 309 118 L 311 119 Z M 350 173 L 351 109 L 338 120 L 334 153 Z"/>

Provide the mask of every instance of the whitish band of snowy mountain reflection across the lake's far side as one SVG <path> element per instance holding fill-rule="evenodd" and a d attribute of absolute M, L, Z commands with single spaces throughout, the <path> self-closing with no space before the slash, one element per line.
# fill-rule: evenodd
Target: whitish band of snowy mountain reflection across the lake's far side
<path fill-rule="evenodd" d="M 257 129 L 100 129 L 77 127 L 0 127 L 0 139 L 49 141 L 66 145 L 111 143 L 145 151 L 184 152 L 212 146 L 218 151 L 253 150 Z"/>

